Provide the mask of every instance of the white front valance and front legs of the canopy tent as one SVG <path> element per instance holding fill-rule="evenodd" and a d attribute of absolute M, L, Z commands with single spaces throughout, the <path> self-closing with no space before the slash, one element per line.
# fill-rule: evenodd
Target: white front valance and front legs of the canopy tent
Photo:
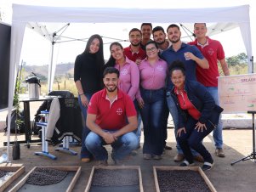
<path fill-rule="evenodd" d="M 225 8 L 61 8 L 13 5 L 9 71 L 9 124 L 15 73 L 20 61 L 24 31 L 29 22 L 49 23 L 235 23 L 239 25 L 249 59 L 252 58 L 249 6 Z M 249 72 L 253 70 L 248 60 Z M 9 134 L 8 134 L 9 149 Z M 8 150 L 9 155 L 9 150 Z"/>

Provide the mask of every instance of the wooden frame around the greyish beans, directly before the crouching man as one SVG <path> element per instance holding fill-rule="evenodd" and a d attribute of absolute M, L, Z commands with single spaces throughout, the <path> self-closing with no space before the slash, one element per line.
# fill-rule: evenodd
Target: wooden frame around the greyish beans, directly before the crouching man
<path fill-rule="evenodd" d="M 141 176 L 141 170 L 139 166 L 97 166 L 97 167 L 93 167 L 90 177 L 88 178 L 88 184 L 86 186 L 86 189 L 84 190 L 84 192 L 89 192 L 90 188 L 91 188 L 91 184 L 92 184 L 92 180 L 94 177 L 94 171 L 96 169 L 108 169 L 108 170 L 118 170 L 118 169 L 135 169 L 138 170 L 138 174 L 139 174 L 139 191 L 140 192 L 144 192 L 143 190 L 143 184 L 142 184 L 142 176 Z"/>

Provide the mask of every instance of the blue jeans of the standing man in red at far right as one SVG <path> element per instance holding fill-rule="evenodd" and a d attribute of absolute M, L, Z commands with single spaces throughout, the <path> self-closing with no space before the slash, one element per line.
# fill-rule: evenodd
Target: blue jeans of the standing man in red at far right
<path fill-rule="evenodd" d="M 208 89 L 208 92 L 213 96 L 215 104 L 219 105 L 218 88 L 216 87 L 206 87 L 206 88 Z M 213 129 L 213 140 L 215 143 L 215 147 L 219 149 L 222 149 L 222 145 L 223 145 L 222 128 L 223 128 L 223 125 L 222 125 L 221 116 L 220 116 L 218 126 Z"/>

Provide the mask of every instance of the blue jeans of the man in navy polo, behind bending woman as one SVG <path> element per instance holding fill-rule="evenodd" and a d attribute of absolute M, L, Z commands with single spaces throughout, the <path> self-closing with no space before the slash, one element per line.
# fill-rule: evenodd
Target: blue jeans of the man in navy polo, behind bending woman
<path fill-rule="evenodd" d="M 174 99 L 171 95 L 168 95 L 167 98 L 167 104 L 168 104 L 168 109 L 170 111 L 171 116 L 173 117 L 173 121 L 174 121 L 174 134 L 175 134 L 175 138 L 176 138 L 176 148 L 179 154 L 183 154 L 183 151 L 181 150 L 179 143 L 177 142 L 177 127 L 178 127 L 178 120 L 179 120 L 179 114 L 178 114 L 178 109 L 177 106 L 174 102 Z M 198 155 L 198 153 L 195 150 L 192 150 L 192 154 L 194 156 Z"/>

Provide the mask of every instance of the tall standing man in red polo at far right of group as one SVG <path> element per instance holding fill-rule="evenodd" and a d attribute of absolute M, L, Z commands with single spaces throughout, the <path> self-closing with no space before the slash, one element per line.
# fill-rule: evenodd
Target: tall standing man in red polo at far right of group
<path fill-rule="evenodd" d="M 195 45 L 203 54 L 205 59 L 208 60 L 209 69 L 202 69 L 196 67 L 196 78 L 198 82 L 201 82 L 211 93 L 216 104 L 219 104 L 218 94 L 218 60 L 221 65 L 222 71 L 225 76 L 230 75 L 228 65 L 225 61 L 225 52 L 219 41 L 213 40 L 206 36 L 207 26 L 205 23 L 195 23 L 194 33 L 196 40 L 189 42 L 191 45 Z M 215 143 L 215 154 L 219 157 L 225 157 L 223 151 L 223 138 L 222 138 L 222 121 L 219 118 L 219 124 L 213 129 L 213 140 Z"/>

